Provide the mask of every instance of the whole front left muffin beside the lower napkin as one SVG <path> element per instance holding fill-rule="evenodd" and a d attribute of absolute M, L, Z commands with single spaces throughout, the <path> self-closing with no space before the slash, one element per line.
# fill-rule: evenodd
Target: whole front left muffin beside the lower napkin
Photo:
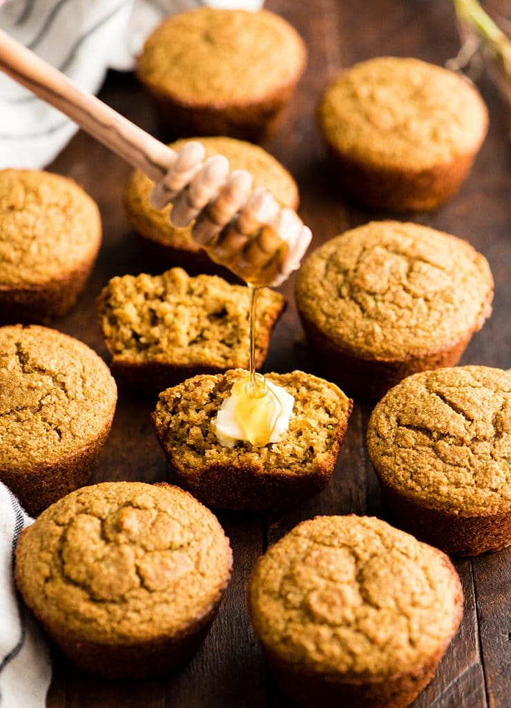
<path fill-rule="evenodd" d="M 60 499 L 23 531 L 16 584 L 76 666 L 144 678 L 196 651 L 231 564 L 222 527 L 187 492 L 104 482 Z"/>

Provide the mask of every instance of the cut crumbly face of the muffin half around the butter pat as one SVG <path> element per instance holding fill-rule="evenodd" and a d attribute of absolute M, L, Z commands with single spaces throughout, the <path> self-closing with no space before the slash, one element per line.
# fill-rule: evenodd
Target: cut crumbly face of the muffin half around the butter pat
<path fill-rule="evenodd" d="M 212 421 L 231 395 L 231 389 L 246 376 L 240 369 L 225 374 L 187 379 L 160 394 L 153 423 L 174 467 L 202 471 L 212 464 L 249 467 L 264 473 L 282 469 L 287 474 L 306 474 L 311 465 L 321 467 L 331 459 L 339 429 L 345 428 L 351 401 L 331 384 L 311 374 L 265 374 L 265 379 L 294 397 L 289 429 L 279 442 L 253 447 L 238 440 L 223 447 Z"/>

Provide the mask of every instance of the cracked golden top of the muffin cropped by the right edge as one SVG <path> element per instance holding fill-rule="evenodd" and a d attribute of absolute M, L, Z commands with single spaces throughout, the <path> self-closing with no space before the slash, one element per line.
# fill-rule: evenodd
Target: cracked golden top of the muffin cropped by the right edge
<path fill-rule="evenodd" d="M 486 366 L 404 379 L 374 409 L 367 450 L 385 484 L 460 514 L 511 509 L 511 373 Z"/>

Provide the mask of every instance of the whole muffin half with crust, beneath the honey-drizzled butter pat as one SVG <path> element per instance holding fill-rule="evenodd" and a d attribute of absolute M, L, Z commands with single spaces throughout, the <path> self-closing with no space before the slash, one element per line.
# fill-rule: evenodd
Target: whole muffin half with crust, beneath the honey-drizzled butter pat
<path fill-rule="evenodd" d="M 302 371 L 265 379 L 294 396 L 280 442 L 254 447 L 220 444 L 214 418 L 236 381 L 231 370 L 195 376 L 160 394 L 152 421 L 176 484 L 208 506 L 275 509 L 321 491 L 330 479 L 348 426 L 352 401 L 335 384 Z"/>

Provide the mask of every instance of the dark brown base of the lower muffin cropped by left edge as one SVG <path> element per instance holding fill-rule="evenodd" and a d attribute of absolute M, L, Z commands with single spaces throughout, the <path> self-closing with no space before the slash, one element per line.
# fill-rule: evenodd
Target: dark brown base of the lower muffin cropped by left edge
<path fill-rule="evenodd" d="M 36 469 L 0 469 L 0 480 L 18 497 L 30 516 L 40 514 L 50 504 L 84 486 L 98 462 L 101 448 L 110 433 L 113 415 L 98 438 L 61 462 L 42 464 Z"/>

